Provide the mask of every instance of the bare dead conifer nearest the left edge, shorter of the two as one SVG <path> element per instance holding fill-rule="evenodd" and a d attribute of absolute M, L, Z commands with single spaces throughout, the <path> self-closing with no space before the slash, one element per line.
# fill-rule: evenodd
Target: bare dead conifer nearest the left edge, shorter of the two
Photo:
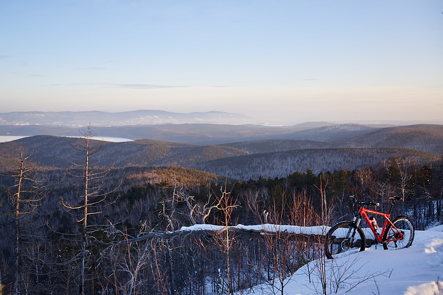
<path fill-rule="evenodd" d="M 9 203 L 12 206 L 13 218 L 15 222 L 15 269 L 13 294 L 19 294 L 19 257 L 21 238 L 21 219 L 30 214 L 43 199 L 41 180 L 37 179 L 36 165 L 32 164 L 31 155 L 24 156 L 23 153 L 18 158 L 14 170 L 10 177 L 14 178 L 14 185 L 9 188 Z"/>

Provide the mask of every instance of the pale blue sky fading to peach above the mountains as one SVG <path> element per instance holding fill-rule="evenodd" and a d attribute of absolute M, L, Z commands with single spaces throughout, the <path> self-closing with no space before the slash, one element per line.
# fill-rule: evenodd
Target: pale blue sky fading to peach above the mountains
<path fill-rule="evenodd" d="M 0 0 L 0 113 L 443 122 L 441 0 Z"/>

